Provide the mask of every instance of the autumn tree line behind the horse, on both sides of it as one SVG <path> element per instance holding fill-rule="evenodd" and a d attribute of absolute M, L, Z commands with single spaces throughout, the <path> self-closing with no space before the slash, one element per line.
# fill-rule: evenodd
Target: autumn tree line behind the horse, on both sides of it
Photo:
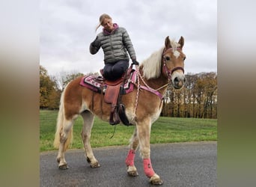
<path fill-rule="evenodd" d="M 90 73 L 98 74 L 98 73 Z M 49 76 L 40 65 L 40 109 L 58 109 L 61 92 L 68 82 L 83 73 Z M 168 86 L 161 116 L 217 118 L 217 73 L 188 73 L 184 88 Z"/>

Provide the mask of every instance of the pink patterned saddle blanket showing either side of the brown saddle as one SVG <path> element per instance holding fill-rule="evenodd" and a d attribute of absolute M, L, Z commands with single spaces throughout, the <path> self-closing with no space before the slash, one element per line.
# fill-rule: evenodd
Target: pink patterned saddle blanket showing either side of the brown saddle
<path fill-rule="evenodd" d="M 121 84 L 121 94 L 127 94 L 133 91 L 134 82 L 136 82 L 136 71 L 132 71 L 129 75 L 129 78 L 125 80 L 124 84 Z M 105 79 L 101 76 L 83 76 L 80 85 L 95 91 L 97 93 L 105 93 L 108 85 L 105 82 Z"/>

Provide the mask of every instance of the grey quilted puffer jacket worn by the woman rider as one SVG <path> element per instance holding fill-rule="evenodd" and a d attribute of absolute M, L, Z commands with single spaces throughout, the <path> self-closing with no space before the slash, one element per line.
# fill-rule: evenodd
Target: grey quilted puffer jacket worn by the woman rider
<path fill-rule="evenodd" d="M 100 47 L 102 47 L 104 52 L 105 64 L 115 63 L 121 60 L 129 61 L 129 56 L 132 59 L 136 59 L 132 41 L 129 39 L 129 34 L 125 28 L 119 27 L 112 34 L 105 32 L 98 34 L 94 42 L 90 45 L 91 54 L 96 54 Z"/>

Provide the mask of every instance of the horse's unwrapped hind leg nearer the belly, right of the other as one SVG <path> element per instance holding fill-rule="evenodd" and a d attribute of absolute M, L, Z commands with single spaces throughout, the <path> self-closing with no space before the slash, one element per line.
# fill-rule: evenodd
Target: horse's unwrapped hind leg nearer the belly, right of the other
<path fill-rule="evenodd" d="M 91 149 L 91 143 L 90 143 L 91 128 L 94 125 L 94 114 L 91 114 L 90 111 L 84 111 L 81 115 L 82 115 L 82 118 L 84 119 L 84 126 L 82 128 L 81 135 L 82 135 L 82 141 L 85 147 L 85 156 L 88 163 L 90 163 L 91 168 L 98 168 L 100 167 L 100 164 L 97 161 L 97 159 L 95 159 L 94 157 L 94 153 Z"/>

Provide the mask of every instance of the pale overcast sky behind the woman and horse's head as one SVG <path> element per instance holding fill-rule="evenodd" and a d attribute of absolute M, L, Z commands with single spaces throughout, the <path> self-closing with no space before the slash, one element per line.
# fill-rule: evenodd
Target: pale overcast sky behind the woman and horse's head
<path fill-rule="evenodd" d="M 49 75 L 103 68 L 102 49 L 89 52 L 102 13 L 127 29 L 138 61 L 164 46 L 165 37 L 183 36 L 186 73 L 217 72 L 216 0 L 43 0 L 40 65 Z"/>

